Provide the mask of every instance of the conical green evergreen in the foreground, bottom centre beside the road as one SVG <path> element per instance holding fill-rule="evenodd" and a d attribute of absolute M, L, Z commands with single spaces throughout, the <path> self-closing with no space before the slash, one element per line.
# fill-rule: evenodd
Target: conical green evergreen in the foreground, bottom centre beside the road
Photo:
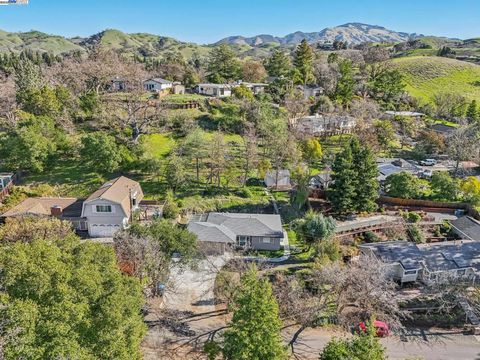
<path fill-rule="evenodd" d="M 235 306 L 230 328 L 225 332 L 224 358 L 285 359 L 278 305 L 272 287 L 266 280 L 258 278 L 255 267 L 242 277 Z"/>

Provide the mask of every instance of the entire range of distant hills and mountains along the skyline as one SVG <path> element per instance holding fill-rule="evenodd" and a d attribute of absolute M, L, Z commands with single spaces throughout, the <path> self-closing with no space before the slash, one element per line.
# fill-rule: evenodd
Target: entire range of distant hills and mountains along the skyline
<path fill-rule="evenodd" d="M 40 31 L 6 32 L 0 30 L 0 53 L 21 51 L 49 52 L 55 55 L 79 52 L 86 54 L 96 46 L 118 51 L 125 56 L 140 58 L 165 58 L 181 54 L 184 59 L 206 57 L 211 49 L 219 44 L 229 44 L 239 57 L 265 58 L 278 48 L 293 49 L 303 39 L 308 42 L 324 43 L 334 40 L 349 44 L 363 42 L 405 42 L 422 35 L 396 32 L 382 26 L 361 23 L 348 23 L 320 32 L 297 31 L 283 37 L 262 34 L 253 37 L 231 36 L 215 44 L 200 45 L 183 42 L 171 37 L 148 33 L 124 33 L 120 30 L 107 29 L 89 37 L 66 38 L 46 34 Z M 448 39 L 430 37 L 430 42 L 445 43 Z M 441 41 L 440 41 L 441 40 Z"/>

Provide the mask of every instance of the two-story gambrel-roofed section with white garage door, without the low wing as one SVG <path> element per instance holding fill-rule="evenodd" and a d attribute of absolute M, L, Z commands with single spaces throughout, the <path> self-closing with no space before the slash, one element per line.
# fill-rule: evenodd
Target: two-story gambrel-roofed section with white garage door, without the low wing
<path fill-rule="evenodd" d="M 140 184 L 124 176 L 105 183 L 84 202 L 82 218 L 91 237 L 111 237 L 128 227 L 132 213 L 143 199 Z"/>

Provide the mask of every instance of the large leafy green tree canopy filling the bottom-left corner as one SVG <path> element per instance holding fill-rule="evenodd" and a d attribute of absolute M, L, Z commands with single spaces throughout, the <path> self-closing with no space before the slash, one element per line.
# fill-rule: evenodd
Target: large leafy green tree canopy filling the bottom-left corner
<path fill-rule="evenodd" d="M 141 284 L 111 248 L 33 237 L 3 244 L 0 267 L 5 359 L 141 359 Z"/>

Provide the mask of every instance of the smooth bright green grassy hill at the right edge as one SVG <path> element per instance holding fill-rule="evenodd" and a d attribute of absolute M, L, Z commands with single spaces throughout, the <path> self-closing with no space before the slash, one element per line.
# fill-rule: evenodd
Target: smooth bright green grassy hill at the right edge
<path fill-rule="evenodd" d="M 407 91 L 423 102 L 436 93 L 457 93 L 480 102 L 480 66 L 433 56 L 393 60 L 404 74 Z"/>

